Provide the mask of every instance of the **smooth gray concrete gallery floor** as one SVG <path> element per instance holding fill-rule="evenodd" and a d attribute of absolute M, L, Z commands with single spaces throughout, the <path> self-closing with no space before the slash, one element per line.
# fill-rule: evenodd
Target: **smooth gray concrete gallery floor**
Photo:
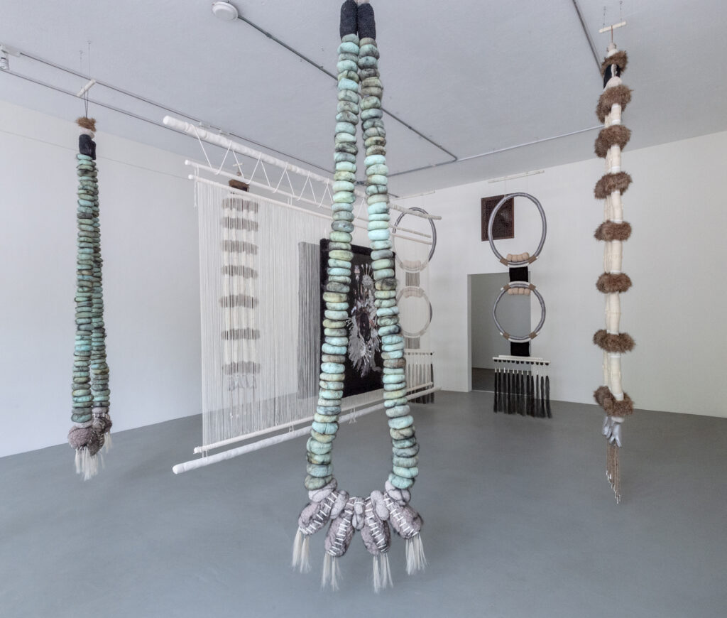
<path fill-rule="evenodd" d="M 604 474 L 595 406 L 553 403 L 553 420 L 491 412 L 491 393 L 417 406 L 412 504 L 430 567 L 371 591 L 355 538 L 338 593 L 289 568 L 305 504 L 305 441 L 174 476 L 199 417 L 114 436 L 84 483 L 68 446 L 0 460 L 0 615 L 21 617 L 639 618 L 727 615 L 727 420 L 640 412 L 627 421 L 622 492 Z M 116 411 L 116 414 L 121 414 Z M 382 414 L 345 425 L 341 486 L 380 488 Z M 358 535 L 357 535 L 358 536 Z"/>

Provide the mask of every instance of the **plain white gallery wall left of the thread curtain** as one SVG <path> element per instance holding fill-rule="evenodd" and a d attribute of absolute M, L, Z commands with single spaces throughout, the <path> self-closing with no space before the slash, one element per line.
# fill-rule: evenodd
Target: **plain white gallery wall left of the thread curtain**
<path fill-rule="evenodd" d="M 100 129 L 111 418 L 123 430 L 201 412 L 197 214 L 180 156 Z M 78 135 L 0 102 L 0 456 L 60 444 L 71 426 Z"/>

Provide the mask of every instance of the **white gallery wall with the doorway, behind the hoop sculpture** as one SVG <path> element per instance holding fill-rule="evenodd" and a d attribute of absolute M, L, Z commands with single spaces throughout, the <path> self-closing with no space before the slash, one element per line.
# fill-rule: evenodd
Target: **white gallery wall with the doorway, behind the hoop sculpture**
<path fill-rule="evenodd" d="M 727 380 L 720 373 L 727 344 L 721 312 L 727 301 L 726 152 L 727 132 L 624 151 L 623 169 L 633 177 L 624 195 L 625 218 L 633 225 L 624 272 L 633 287 L 622 296 L 622 330 L 633 335 L 636 348 L 624 356 L 623 382 L 640 409 L 727 417 Z M 480 199 L 526 191 L 548 217 L 545 249 L 531 266 L 531 281 L 547 303 L 532 353 L 552 361 L 553 398 L 593 403 L 602 353 L 591 337 L 603 327 L 603 295 L 595 289 L 603 244 L 593 238 L 603 206 L 593 186 L 603 160 L 589 155 L 544 174 L 475 182 L 406 202 L 443 215 L 431 263 L 433 347 L 443 388 L 470 388 L 468 276 L 504 270 L 480 239 Z M 502 254 L 537 246 L 534 208 L 523 200 L 515 211 L 515 238 L 499 241 Z M 532 324 L 538 319 L 534 306 Z"/>

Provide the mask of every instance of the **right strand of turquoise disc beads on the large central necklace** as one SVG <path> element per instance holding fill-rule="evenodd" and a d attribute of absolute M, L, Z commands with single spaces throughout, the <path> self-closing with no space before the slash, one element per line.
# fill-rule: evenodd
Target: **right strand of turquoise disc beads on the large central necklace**
<path fill-rule="evenodd" d="M 414 418 L 406 398 L 404 340 L 396 303 L 394 254 L 389 230 L 389 194 L 386 165 L 386 130 L 381 100 L 379 49 L 376 40 L 361 38 L 358 55 L 361 81 L 361 121 L 366 148 L 366 202 L 369 209 L 371 266 L 374 270 L 377 329 L 384 364 L 384 406 L 392 440 L 393 459 L 389 482 L 397 489 L 409 489 L 419 473 L 419 446 L 414 436 Z"/>

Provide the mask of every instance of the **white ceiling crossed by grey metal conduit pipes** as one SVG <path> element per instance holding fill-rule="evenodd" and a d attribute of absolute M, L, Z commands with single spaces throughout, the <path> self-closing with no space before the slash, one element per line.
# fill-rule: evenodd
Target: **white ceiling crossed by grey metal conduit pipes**
<path fill-rule="evenodd" d="M 234 0 L 261 28 L 335 73 L 340 1 Z M 576 132 L 598 124 L 601 77 L 572 0 L 373 1 L 384 105 L 458 158 Z M 605 50 L 616 0 L 579 0 Z M 624 0 L 633 90 L 630 148 L 727 129 L 720 0 Z M 223 23 L 210 0 L 3 0 L 0 42 L 181 110 L 289 156 L 332 168 L 335 81 L 241 20 Z M 83 62 L 79 50 L 84 50 Z M 27 57 L 12 71 L 76 92 L 84 79 Z M 0 74 L 0 97 L 73 119 L 79 100 Z M 160 121 L 164 111 L 108 89 L 92 98 Z M 100 130 L 197 158 L 198 145 L 166 129 L 92 106 Z M 451 157 L 387 118 L 392 173 Z M 438 166 L 391 179 L 400 195 L 578 161 L 595 131 Z M 222 154 L 220 153 L 220 160 Z"/>

